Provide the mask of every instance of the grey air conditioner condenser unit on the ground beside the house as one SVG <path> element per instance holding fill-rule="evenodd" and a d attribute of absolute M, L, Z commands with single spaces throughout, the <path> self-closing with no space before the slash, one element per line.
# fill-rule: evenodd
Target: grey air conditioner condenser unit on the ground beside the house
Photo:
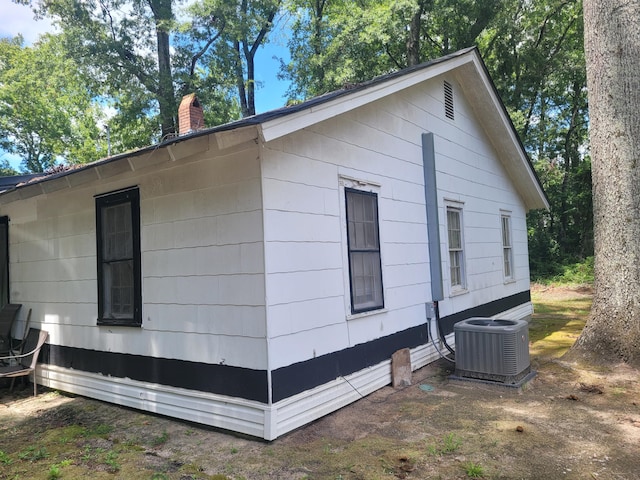
<path fill-rule="evenodd" d="M 531 372 L 526 320 L 472 317 L 453 329 L 456 377 L 517 384 Z"/>

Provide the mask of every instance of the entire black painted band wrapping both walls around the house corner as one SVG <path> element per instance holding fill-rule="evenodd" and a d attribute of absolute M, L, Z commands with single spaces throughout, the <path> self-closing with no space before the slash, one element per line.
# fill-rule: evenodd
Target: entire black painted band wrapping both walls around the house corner
<path fill-rule="evenodd" d="M 491 317 L 529 301 L 531 295 L 527 290 L 448 315 L 441 319 L 443 331 L 449 334 L 456 322 L 470 317 Z M 371 367 L 388 360 L 401 348 L 414 348 L 427 341 L 427 329 L 422 324 L 339 352 L 278 368 L 271 374 L 273 402 Z M 131 378 L 265 404 L 269 402 L 266 370 L 48 344 L 42 349 L 42 361 L 105 376 Z"/>

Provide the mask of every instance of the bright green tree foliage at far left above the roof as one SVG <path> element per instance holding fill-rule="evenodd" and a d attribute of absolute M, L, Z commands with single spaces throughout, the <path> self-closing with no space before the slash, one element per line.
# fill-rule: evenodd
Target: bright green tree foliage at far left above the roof
<path fill-rule="evenodd" d="M 0 39 L 0 147 L 19 155 L 24 171 L 42 172 L 62 159 L 95 160 L 97 116 L 60 37 L 45 36 L 32 47 L 21 38 Z"/>

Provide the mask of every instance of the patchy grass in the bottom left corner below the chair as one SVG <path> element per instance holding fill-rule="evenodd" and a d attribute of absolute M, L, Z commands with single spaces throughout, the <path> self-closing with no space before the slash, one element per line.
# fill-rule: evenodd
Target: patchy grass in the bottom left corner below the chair
<path fill-rule="evenodd" d="M 114 432 L 116 417 L 111 424 L 104 421 L 118 414 L 117 407 L 91 401 L 80 407 L 73 403 L 76 399 L 56 392 L 40 394 L 38 400 L 42 410 L 11 427 L 0 426 L 0 479 L 208 478 L 192 475 L 200 473 L 200 467 L 158 457 L 139 442 L 125 441 L 129 432 Z M 56 406 L 47 407 L 48 402 Z M 168 435 L 162 430 L 147 440 L 162 445 Z"/>

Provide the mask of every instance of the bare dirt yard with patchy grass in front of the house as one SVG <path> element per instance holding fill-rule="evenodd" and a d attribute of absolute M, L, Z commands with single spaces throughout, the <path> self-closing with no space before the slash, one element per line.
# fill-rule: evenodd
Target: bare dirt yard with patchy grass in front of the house
<path fill-rule="evenodd" d="M 537 376 L 521 390 L 451 380 L 453 365 L 440 360 L 414 372 L 409 387 L 385 387 L 263 442 L 3 388 L 0 479 L 640 478 L 640 372 L 563 361 L 590 292 L 533 294 L 541 304 L 530 330 Z"/>

